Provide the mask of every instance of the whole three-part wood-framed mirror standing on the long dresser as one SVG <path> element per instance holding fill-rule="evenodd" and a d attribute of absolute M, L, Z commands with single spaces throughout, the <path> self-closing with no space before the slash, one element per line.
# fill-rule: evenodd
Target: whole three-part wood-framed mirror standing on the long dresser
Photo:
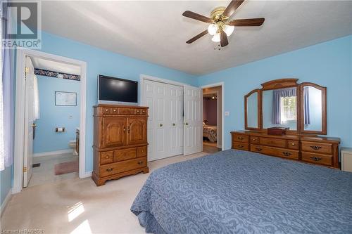
<path fill-rule="evenodd" d="M 326 88 L 298 79 L 265 82 L 244 97 L 245 129 L 288 128 L 289 134 L 327 134 Z"/>

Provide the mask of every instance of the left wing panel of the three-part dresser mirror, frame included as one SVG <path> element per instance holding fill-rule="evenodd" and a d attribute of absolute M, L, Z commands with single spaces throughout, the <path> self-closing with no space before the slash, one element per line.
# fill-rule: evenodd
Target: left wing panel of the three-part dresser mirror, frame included
<path fill-rule="evenodd" d="M 244 96 L 245 105 L 245 128 L 260 129 L 260 92 L 255 89 Z"/>

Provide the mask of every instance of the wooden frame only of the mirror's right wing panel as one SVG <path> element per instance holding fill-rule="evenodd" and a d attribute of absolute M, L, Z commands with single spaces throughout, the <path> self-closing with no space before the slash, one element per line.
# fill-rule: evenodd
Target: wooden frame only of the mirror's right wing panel
<path fill-rule="evenodd" d="M 304 130 L 304 97 L 303 94 L 300 96 L 300 103 L 301 104 L 301 117 L 300 117 L 300 128 L 301 128 L 301 133 L 302 134 L 321 134 L 321 135 L 326 135 L 327 134 L 327 88 L 324 86 L 320 86 L 318 84 L 310 83 L 310 82 L 304 82 L 300 84 L 300 92 L 303 93 L 303 88 L 305 86 L 312 86 L 315 89 L 319 89 L 322 91 L 322 131 L 306 131 Z"/>

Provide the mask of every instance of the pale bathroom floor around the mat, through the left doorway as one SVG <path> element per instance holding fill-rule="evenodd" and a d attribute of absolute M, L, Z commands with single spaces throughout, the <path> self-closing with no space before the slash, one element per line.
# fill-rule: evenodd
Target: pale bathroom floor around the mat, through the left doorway
<path fill-rule="evenodd" d="M 55 181 L 61 181 L 68 178 L 77 178 L 78 171 L 68 174 L 55 175 L 54 167 L 55 164 L 61 162 L 71 162 L 77 160 L 78 156 L 74 156 L 72 153 L 61 154 L 61 155 L 50 155 L 45 157 L 34 157 L 33 164 L 40 163 L 40 167 L 33 168 L 33 174 L 30 178 L 28 187 L 41 185 L 44 183 L 52 183 Z"/>

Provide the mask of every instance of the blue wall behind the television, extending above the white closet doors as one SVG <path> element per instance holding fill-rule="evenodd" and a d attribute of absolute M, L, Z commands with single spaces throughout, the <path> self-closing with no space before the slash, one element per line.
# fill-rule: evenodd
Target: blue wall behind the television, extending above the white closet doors
<path fill-rule="evenodd" d="M 140 74 L 171 79 L 196 85 L 195 76 L 142 60 L 82 44 L 77 41 L 42 32 L 42 51 L 87 62 L 87 112 L 86 112 L 86 171 L 93 169 L 93 105 L 97 100 L 97 76 L 132 79 L 139 82 Z"/>

